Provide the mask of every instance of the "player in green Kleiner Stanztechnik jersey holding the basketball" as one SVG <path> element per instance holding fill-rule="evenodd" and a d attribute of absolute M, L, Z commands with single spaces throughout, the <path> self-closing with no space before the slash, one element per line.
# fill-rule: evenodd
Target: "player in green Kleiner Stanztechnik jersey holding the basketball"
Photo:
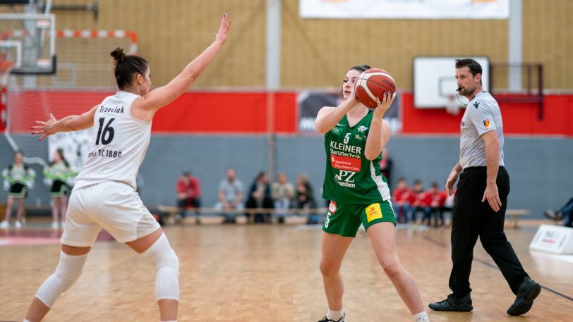
<path fill-rule="evenodd" d="M 328 302 L 327 316 L 319 322 L 342 322 L 343 285 L 340 266 L 360 225 L 374 246 L 380 265 L 414 321 L 429 321 L 411 275 L 396 252 L 394 212 L 390 189 L 380 173 L 382 148 L 390 139 L 390 125 L 382 120 L 396 94 L 384 94 L 370 111 L 354 94 L 356 79 L 370 66 L 354 66 L 344 77 L 342 99 L 337 107 L 318 111 L 316 129 L 325 136 L 326 174 L 322 197 L 332 202 L 322 230 L 320 272 Z"/>

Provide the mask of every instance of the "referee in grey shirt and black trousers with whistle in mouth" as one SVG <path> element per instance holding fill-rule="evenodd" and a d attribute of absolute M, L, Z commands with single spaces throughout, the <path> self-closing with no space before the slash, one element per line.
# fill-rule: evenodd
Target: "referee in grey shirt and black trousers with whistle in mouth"
<path fill-rule="evenodd" d="M 447 178 L 446 190 L 459 175 L 452 214 L 452 294 L 430 304 L 436 311 L 471 311 L 469 273 L 474 246 L 481 244 L 493 258 L 517 299 L 509 315 L 525 314 L 541 286 L 529 278 L 503 232 L 509 175 L 503 163 L 503 123 L 500 106 L 481 85 L 481 66 L 473 59 L 456 60 L 459 94 L 469 99 L 462 118 L 459 162 Z M 461 173 L 461 175 L 460 175 Z"/>

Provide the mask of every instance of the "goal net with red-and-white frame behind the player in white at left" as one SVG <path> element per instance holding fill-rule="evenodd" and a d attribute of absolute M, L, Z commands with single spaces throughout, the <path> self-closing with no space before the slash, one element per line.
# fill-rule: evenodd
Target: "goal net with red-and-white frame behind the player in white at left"
<path fill-rule="evenodd" d="M 38 144 L 30 127 L 35 120 L 47 120 L 49 111 L 58 119 L 88 111 L 114 92 L 109 52 L 116 47 L 133 51 L 134 39 L 121 31 L 58 32 L 54 75 L 10 75 L 5 134 L 14 143 L 14 149 L 23 151 L 27 162 L 43 163 L 39 159 L 51 159 L 49 151 L 62 148 L 68 161 L 74 163 L 78 159 L 77 164 L 81 164 L 85 144 L 89 144 L 85 132 L 53 137 L 47 147 Z"/>

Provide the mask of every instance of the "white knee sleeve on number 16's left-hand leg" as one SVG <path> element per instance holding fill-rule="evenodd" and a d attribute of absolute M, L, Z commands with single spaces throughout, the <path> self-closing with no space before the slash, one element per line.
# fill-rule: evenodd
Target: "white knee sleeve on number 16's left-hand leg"
<path fill-rule="evenodd" d="M 88 259 L 88 254 L 71 256 L 61 252 L 56 271 L 40 286 L 35 295 L 37 299 L 51 308 L 59 295 L 76 283 L 82 274 L 86 259 Z"/>

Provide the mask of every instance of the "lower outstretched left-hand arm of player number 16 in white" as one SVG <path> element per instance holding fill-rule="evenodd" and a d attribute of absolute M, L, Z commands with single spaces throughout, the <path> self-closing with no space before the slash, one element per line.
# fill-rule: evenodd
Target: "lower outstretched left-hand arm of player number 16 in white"
<path fill-rule="evenodd" d="M 71 132 L 91 128 L 94 125 L 94 114 L 98 106 L 99 104 L 82 115 L 66 116 L 61 120 L 56 120 L 54 114 L 50 111 L 49 120 L 46 122 L 42 122 L 41 120 L 34 122 L 36 125 L 32 126 L 32 134 L 42 135 L 40 137 L 40 141 L 42 141 L 49 135 L 56 134 L 57 132 Z"/>

